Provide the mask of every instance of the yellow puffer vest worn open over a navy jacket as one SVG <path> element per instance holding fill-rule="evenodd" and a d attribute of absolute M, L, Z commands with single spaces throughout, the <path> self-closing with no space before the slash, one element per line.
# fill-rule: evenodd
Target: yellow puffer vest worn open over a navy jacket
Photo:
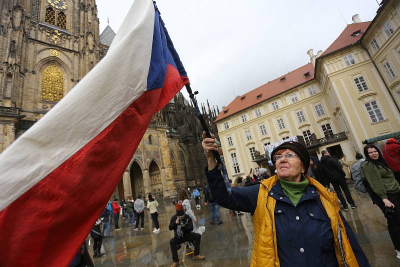
<path fill-rule="evenodd" d="M 340 267 L 358 267 L 357 259 L 347 239 L 343 221 L 339 215 L 339 203 L 334 192 L 330 192 L 319 182 L 307 176 L 309 184 L 315 186 L 321 202 L 330 218 L 334 238 L 334 250 Z M 268 195 L 271 187 L 278 181 L 277 175 L 263 180 L 259 185 L 257 207 L 253 215 L 254 243 L 251 267 L 279 266 L 274 223 L 276 200 Z"/>

